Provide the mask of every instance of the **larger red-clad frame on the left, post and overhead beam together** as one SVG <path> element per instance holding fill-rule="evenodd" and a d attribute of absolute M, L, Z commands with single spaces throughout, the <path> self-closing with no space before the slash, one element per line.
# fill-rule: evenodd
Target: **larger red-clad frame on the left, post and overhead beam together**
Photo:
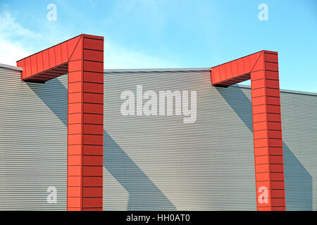
<path fill-rule="evenodd" d="M 17 61 L 24 82 L 68 73 L 67 210 L 102 210 L 104 37 L 77 37 Z"/>

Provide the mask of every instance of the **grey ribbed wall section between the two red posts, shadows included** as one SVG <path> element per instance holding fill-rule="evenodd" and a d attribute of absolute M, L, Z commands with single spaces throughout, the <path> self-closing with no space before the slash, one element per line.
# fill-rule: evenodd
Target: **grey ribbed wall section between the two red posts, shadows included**
<path fill-rule="evenodd" d="M 256 210 L 248 90 L 212 87 L 210 70 L 106 72 L 104 81 L 104 210 Z M 121 115 L 120 94 L 137 85 L 197 91 L 196 122 Z"/>

